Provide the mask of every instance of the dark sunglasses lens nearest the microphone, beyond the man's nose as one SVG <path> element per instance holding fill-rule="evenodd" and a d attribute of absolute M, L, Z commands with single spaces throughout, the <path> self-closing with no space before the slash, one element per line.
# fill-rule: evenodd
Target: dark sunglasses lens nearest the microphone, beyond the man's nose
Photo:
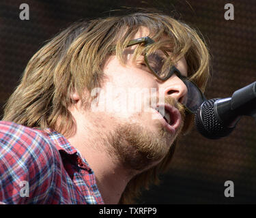
<path fill-rule="evenodd" d="M 195 112 L 201 106 L 201 104 L 203 104 L 205 98 L 203 97 L 203 94 L 199 88 L 193 84 L 193 82 L 190 82 L 189 80 L 183 80 L 183 82 L 186 84 L 188 93 L 182 104 L 184 104 L 184 106 L 186 106 L 186 108 L 188 108 L 190 111 Z"/>

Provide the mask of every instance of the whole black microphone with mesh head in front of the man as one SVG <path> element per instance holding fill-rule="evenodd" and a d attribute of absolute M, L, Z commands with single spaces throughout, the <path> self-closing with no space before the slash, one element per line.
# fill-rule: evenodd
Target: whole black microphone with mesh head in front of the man
<path fill-rule="evenodd" d="M 205 138 L 218 139 L 231 134 L 243 115 L 256 120 L 256 82 L 235 91 L 231 97 L 203 102 L 195 112 L 195 127 Z"/>

